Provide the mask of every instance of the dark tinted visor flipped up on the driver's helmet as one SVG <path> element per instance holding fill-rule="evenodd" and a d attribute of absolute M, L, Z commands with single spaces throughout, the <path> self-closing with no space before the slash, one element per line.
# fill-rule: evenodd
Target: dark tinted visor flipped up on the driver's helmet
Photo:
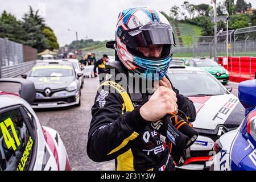
<path fill-rule="evenodd" d="M 175 45 L 174 32 L 172 27 L 168 24 L 152 22 L 146 26 L 124 31 L 121 36 L 126 46 L 130 48 L 150 46 L 155 44 L 173 44 Z"/>

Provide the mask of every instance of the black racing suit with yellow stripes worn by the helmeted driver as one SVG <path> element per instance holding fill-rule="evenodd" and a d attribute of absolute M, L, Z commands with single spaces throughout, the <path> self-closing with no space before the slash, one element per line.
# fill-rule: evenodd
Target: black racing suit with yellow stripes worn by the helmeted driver
<path fill-rule="evenodd" d="M 178 108 L 190 118 L 190 122 L 195 121 L 193 102 L 179 94 L 179 90 L 172 89 L 177 94 Z M 124 111 L 121 94 L 110 93 L 108 86 L 102 86 L 98 91 L 88 134 L 89 158 L 95 162 L 115 159 L 117 170 L 174 170 L 168 147 L 156 130 L 158 126 L 145 121 L 139 113 L 141 106 L 148 101 L 148 94 L 142 93 L 142 100 L 132 100 L 133 111 Z"/>

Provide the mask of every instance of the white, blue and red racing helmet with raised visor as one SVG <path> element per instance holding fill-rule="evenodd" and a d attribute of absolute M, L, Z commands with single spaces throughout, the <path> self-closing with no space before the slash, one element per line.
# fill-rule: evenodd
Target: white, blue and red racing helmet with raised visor
<path fill-rule="evenodd" d="M 138 47 L 163 45 L 159 58 L 146 57 Z M 174 32 L 166 17 L 156 10 L 136 7 L 119 13 L 115 41 L 106 44 L 114 48 L 119 60 L 130 72 L 150 80 L 166 75 L 175 46 Z"/>

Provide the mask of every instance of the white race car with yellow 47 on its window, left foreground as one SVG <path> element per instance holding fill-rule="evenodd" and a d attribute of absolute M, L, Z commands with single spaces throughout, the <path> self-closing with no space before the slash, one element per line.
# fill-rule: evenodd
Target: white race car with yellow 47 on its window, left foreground
<path fill-rule="evenodd" d="M 20 96 L 2 91 L 3 82 L 21 84 Z M 71 170 L 59 133 L 42 126 L 30 106 L 35 97 L 32 81 L 0 79 L 0 171 Z"/>

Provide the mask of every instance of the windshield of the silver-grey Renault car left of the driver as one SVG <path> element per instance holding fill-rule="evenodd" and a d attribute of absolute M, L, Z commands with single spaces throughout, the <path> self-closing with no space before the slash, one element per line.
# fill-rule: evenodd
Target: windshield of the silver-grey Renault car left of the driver
<path fill-rule="evenodd" d="M 73 68 L 69 65 L 40 65 L 32 68 L 31 77 L 65 77 L 73 76 Z"/>

